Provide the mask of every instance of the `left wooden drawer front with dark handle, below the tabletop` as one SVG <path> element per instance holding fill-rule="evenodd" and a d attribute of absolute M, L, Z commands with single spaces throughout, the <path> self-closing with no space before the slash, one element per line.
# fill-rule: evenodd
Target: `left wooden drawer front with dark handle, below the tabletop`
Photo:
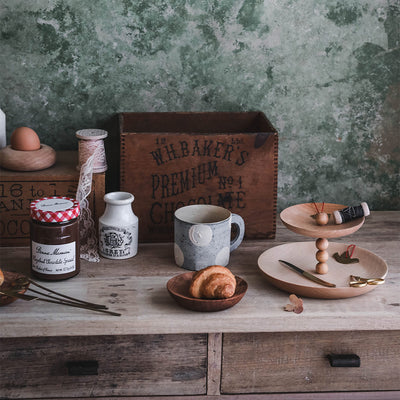
<path fill-rule="evenodd" d="M 207 335 L 0 340 L 0 397 L 205 394 Z"/>

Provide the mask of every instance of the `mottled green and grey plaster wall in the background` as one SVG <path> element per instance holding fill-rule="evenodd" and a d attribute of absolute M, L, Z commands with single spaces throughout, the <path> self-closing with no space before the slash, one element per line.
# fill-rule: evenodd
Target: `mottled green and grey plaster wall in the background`
<path fill-rule="evenodd" d="M 0 38 L 8 137 L 77 149 L 118 112 L 260 110 L 278 209 L 400 209 L 399 0 L 0 0 Z"/>

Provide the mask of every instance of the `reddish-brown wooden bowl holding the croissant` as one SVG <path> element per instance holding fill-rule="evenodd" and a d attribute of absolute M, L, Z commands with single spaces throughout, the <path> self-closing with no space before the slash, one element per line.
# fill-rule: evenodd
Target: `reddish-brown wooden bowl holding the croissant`
<path fill-rule="evenodd" d="M 196 299 L 189 294 L 189 287 L 194 273 L 185 272 L 171 278 L 167 283 L 167 290 L 172 298 L 188 310 L 202 312 L 226 310 L 237 304 L 247 291 L 247 282 L 236 276 L 236 291 L 229 299 Z"/>

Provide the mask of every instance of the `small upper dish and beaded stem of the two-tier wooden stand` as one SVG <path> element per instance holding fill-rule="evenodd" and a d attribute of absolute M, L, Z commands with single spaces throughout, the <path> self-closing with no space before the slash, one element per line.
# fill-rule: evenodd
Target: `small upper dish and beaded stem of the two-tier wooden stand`
<path fill-rule="evenodd" d="M 317 206 L 318 209 L 321 209 L 322 203 L 318 203 Z M 328 239 L 350 235 L 360 229 L 365 221 L 365 217 L 362 217 L 340 225 L 335 224 L 333 212 L 343 210 L 346 207 L 342 204 L 325 203 L 324 212 L 329 215 L 329 221 L 326 225 L 317 225 L 314 218 L 316 214 L 314 203 L 288 207 L 280 214 L 283 224 L 288 229 L 300 235 L 316 239 L 315 246 L 318 251 L 315 254 L 315 258 L 318 263 L 315 266 L 315 272 L 318 274 L 326 274 L 329 269 Z"/>

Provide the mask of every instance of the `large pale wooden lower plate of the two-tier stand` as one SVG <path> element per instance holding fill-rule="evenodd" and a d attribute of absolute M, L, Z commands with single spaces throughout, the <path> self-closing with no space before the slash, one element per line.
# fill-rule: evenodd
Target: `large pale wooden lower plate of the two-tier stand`
<path fill-rule="evenodd" d="M 270 283 L 289 293 L 318 299 L 340 299 L 360 296 L 375 289 L 376 285 L 367 285 L 359 288 L 350 287 L 350 275 L 363 278 L 385 278 L 388 268 L 382 258 L 357 246 L 353 253 L 353 258 L 360 260 L 357 264 L 341 264 L 332 258 L 334 253 L 341 254 L 346 251 L 348 246 L 345 243 L 329 243 L 329 271 L 324 275 L 315 273 L 315 253 L 317 249 L 314 242 L 287 243 L 272 247 L 260 255 L 258 266 Z M 329 288 L 312 282 L 290 268 L 283 266 L 278 260 L 288 261 L 324 281 L 336 284 L 336 287 Z"/>

